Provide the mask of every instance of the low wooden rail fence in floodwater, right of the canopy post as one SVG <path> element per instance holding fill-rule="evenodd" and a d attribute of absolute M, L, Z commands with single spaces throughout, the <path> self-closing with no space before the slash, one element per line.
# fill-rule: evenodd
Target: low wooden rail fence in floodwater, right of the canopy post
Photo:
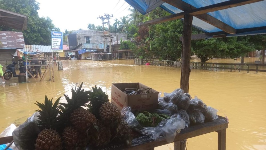
<path fill-rule="evenodd" d="M 232 72 L 232 70 L 241 70 L 247 71 L 255 71 L 258 72 L 266 72 L 266 64 L 245 64 L 245 63 L 206 63 L 206 62 L 190 62 L 190 67 L 193 69 L 206 69 L 210 70 L 214 69 L 227 69 Z M 260 68 L 259 68 L 260 67 Z"/>

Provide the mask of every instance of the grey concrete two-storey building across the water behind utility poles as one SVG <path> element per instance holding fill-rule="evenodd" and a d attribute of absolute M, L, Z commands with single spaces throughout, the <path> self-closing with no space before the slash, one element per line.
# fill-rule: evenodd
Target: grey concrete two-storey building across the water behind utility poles
<path fill-rule="evenodd" d="M 110 33 L 111 42 L 117 39 L 126 40 L 127 34 L 124 33 Z M 102 31 L 94 30 L 77 30 L 68 35 L 69 57 L 73 60 L 91 59 L 91 54 L 94 52 L 103 52 L 109 43 L 109 37 L 106 38 L 106 45 L 104 47 L 104 39 Z M 109 49 L 106 49 L 109 51 Z M 67 55 L 67 54 L 66 54 Z"/>

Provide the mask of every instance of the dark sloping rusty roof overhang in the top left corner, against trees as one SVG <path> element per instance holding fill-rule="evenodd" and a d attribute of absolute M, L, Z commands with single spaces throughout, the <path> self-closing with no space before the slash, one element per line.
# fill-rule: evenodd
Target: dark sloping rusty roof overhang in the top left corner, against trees
<path fill-rule="evenodd" d="M 0 9 L 0 25 L 5 25 L 13 29 L 26 30 L 28 16 Z"/>

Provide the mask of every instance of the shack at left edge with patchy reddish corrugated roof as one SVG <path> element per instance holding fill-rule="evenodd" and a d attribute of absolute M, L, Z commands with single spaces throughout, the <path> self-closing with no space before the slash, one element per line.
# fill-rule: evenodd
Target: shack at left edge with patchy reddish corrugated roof
<path fill-rule="evenodd" d="M 0 64 L 5 68 L 13 59 L 18 62 L 17 49 L 23 49 L 22 32 L 0 31 Z"/>

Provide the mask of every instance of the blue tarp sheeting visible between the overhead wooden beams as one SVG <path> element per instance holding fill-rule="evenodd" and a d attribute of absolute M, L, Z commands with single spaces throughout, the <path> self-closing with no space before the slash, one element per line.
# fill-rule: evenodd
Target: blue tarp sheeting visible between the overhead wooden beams
<path fill-rule="evenodd" d="M 125 0 L 142 14 L 160 6 L 172 14 L 183 12 L 182 10 L 160 0 Z M 196 8 L 209 6 L 228 0 L 182 0 Z M 218 10 L 207 13 L 212 17 L 226 23 L 234 29 L 246 29 L 266 26 L 266 1 L 255 2 L 242 6 Z M 209 23 L 193 17 L 193 26 L 206 33 L 222 31 Z M 255 30 L 254 30 L 255 31 Z M 264 31 L 265 32 L 265 31 Z"/>

